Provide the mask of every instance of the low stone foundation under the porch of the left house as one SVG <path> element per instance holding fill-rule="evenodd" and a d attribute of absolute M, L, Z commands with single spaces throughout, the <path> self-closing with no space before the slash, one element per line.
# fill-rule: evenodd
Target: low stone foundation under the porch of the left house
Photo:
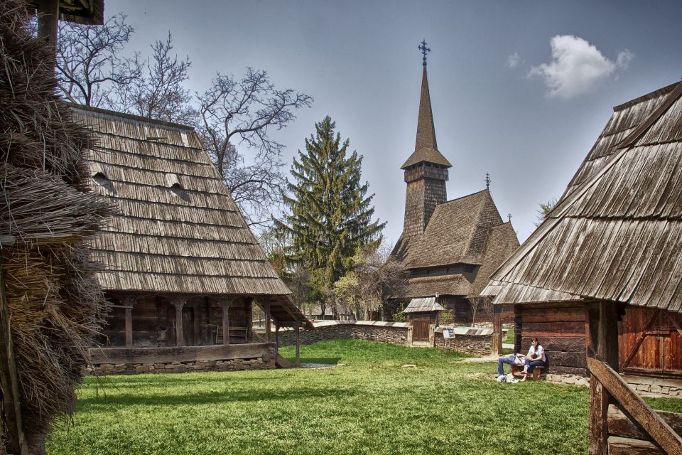
<path fill-rule="evenodd" d="M 229 360 L 197 360 L 170 363 L 101 363 L 84 368 L 84 376 L 139 375 L 141 373 L 190 373 L 192 371 L 270 370 L 275 368 L 274 358 L 237 358 Z"/>

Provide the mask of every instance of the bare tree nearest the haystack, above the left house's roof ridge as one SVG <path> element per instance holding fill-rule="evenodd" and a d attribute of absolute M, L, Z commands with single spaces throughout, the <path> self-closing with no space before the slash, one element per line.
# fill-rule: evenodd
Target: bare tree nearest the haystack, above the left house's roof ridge
<path fill-rule="evenodd" d="M 60 21 L 57 78 L 68 100 L 112 107 L 114 90 L 129 86 L 141 73 L 137 54 L 133 58 L 120 55 L 133 31 L 120 13 L 102 26 Z"/>

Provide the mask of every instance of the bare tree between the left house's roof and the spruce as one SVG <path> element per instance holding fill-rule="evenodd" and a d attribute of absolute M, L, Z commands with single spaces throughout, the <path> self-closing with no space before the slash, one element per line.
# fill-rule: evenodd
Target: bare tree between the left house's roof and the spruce
<path fill-rule="evenodd" d="M 270 132 L 286 127 L 296 119 L 296 109 L 310 106 L 313 98 L 278 90 L 265 71 L 252 68 L 240 80 L 218 73 L 209 90 L 196 97 L 205 149 L 232 198 L 249 225 L 269 225 L 285 183 L 283 145 Z"/>

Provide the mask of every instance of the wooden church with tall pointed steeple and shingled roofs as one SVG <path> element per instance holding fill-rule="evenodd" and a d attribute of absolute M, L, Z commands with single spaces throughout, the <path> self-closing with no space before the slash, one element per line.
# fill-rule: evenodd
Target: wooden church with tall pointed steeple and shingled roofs
<path fill-rule="evenodd" d="M 470 299 L 519 240 L 488 189 L 448 201 L 450 167 L 435 139 L 425 57 L 415 150 L 401 166 L 407 184 L 403 232 L 391 252 L 409 270 L 408 286 L 394 301 L 437 296 L 455 321 L 470 322 Z"/>

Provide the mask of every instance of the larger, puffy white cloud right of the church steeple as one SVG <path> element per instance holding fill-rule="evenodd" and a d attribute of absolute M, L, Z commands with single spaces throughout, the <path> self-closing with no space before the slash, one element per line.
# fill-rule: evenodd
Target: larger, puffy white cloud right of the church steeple
<path fill-rule="evenodd" d="M 634 53 L 624 50 L 616 62 L 595 45 L 578 36 L 557 35 L 551 39 L 552 59 L 531 68 L 529 77 L 542 77 L 548 97 L 572 98 L 595 90 L 617 70 L 626 70 Z"/>

